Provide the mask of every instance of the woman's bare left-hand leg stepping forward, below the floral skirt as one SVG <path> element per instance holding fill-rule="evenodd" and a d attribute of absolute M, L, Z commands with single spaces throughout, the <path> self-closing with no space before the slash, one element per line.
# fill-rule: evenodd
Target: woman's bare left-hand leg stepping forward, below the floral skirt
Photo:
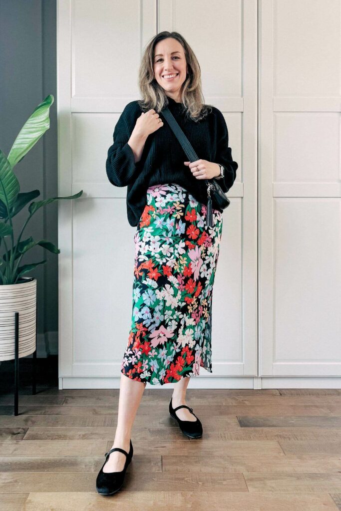
<path fill-rule="evenodd" d="M 121 373 L 117 427 L 115 440 L 110 449 L 121 447 L 121 449 L 129 452 L 131 429 L 145 387 L 146 383 L 133 380 Z M 125 454 L 122 452 L 112 452 L 103 467 L 103 472 L 119 472 L 123 470 L 126 459 Z"/>

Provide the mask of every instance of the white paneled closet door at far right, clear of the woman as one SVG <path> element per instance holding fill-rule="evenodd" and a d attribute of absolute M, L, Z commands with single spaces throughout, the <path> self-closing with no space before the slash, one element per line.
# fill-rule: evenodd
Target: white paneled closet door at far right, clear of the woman
<path fill-rule="evenodd" d="M 260 6 L 259 374 L 339 386 L 340 2 Z"/>

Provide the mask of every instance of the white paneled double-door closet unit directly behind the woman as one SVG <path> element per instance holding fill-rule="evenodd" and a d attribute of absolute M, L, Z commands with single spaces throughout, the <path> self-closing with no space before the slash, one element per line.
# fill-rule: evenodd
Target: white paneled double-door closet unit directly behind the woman
<path fill-rule="evenodd" d="M 118 387 L 131 322 L 135 227 L 105 160 L 157 32 L 178 31 L 201 66 L 238 162 L 223 213 L 213 294 L 213 374 L 192 387 L 253 387 L 257 376 L 257 0 L 58 0 L 59 387 Z M 235 378 L 234 378 L 235 377 Z M 172 385 L 171 385 L 172 386 Z"/>

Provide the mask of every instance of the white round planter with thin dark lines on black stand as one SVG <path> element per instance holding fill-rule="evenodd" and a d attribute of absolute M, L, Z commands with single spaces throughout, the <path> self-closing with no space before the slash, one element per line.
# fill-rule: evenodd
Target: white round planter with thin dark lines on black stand
<path fill-rule="evenodd" d="M 36 349 L 37 280 L 21 277 L 0 286 L 0 361 L 14 359 L 15 312 L 19 313 L 19 358 Z"/>

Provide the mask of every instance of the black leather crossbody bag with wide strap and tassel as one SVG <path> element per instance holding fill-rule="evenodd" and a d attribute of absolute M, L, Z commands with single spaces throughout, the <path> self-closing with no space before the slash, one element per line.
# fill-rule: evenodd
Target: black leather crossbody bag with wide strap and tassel
<path fill-rule="evenodd" d="M 163 114 L 164 118 L 169 124 L 169 127 L 173 131 L 174 135 L 176 136 L 177 140 L 181 144 L 181 147 L 184 149 L 186 156 L 188 157 L 190 162 L 198 160 L 198 156 L 196 152 L 194 151 L 191 143 L 189 142 L 187 136 L 183 132 L 183 130 L 178 125 L 177 121 L 174 118 L 174 115 L 169 110 L 169 108 L 165 108 L 160 112 Z M 212 213 L 212 206 L 222 212 L 225 207 L 228 207 L 230 204 L 230 199 L 226 197 L 225 193 L 221 189 L 220 185 L 218 184 L 218 181 L 213 179 L 205 179 L 205 182 L 207 184 L 207 195 L 208 195 L 208 201 L 207 201 L 207 213 L 206 213 L 206 223 L 209 227 L 213 227 L 213 213 Z"/>

